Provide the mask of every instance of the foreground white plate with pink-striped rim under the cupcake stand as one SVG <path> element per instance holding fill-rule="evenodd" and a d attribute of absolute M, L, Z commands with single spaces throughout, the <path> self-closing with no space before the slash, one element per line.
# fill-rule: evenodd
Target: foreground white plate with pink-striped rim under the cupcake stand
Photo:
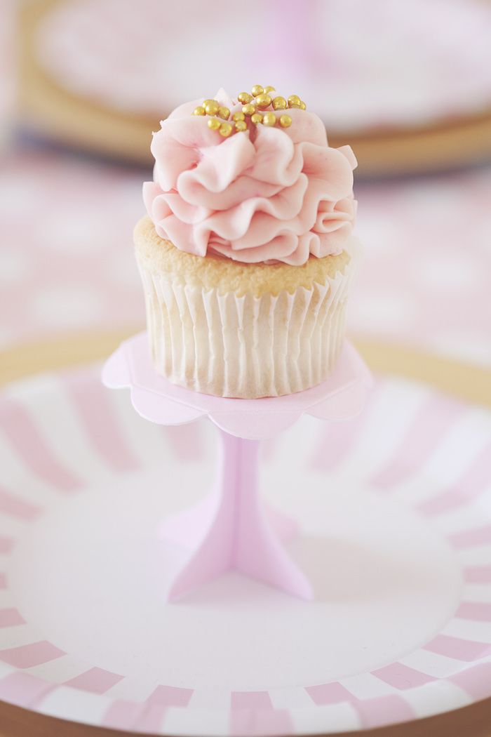
<path fill-rule="evenodd" d="M 491 696 L 491 415 L 395 379 L 264 444 L 314 603 L 228 573 L 177 604 L 166 514 L 216 429 L 145 422 L 84 368 L 0 399 L 0 699 L 158 734 L 333 733 Z"/>

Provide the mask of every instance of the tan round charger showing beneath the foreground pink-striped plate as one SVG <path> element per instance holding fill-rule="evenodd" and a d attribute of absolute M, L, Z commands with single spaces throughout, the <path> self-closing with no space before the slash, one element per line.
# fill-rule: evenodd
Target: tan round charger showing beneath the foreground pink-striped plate
<path fill-rule="evenodd" d="M 13 347 L 0 353 L 0 385 L 42 371 L 102 360 L 134 332 L 85 333 Z M 407 346 L 367 339 L 355 343 L 374 371 L 423 381 L 466 401 L 491 407 L 491 371 Z M 54 719 L 0 702 L 0 737 L 124 737 L 127 734 Z M 343 733 L 344 737 L 361 734 L 364 737 L 491 737 L 491 699 L 417 722 L 363 733 Z"/>

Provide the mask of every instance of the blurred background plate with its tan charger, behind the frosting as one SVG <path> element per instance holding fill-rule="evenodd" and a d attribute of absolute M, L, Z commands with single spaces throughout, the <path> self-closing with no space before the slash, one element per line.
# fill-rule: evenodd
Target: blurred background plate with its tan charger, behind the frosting
<path fill-rule="evenodd" d="M 180 102 L 257 82 L 299 93 L 333 144 L 356 142 L 364 174 L 491 153 L 483 1 L 269 0 L 244 12 L 217 0 L 210 13 L 196 0 L 37 0 L 21 32 L 25 125 L 105 153 L 148 161 L 149 132 Z"/>

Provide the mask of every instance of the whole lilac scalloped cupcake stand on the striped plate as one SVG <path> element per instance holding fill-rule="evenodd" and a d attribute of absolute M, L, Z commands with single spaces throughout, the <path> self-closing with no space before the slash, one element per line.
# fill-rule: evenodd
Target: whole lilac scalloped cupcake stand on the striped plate
<path fill-rule="evenodd" d="M 182 425 L 208 416 L 220 430 L 215 488 L 197 506 L 163 523 L 163 536 L 190 551 L 166 593 L 169 601 L 233 569 L 311 600 L 310 581 L 280 542 L 297 534 L 297 524 L 261 505 L 259 443 L 293 425 L 305 412 L 328 422 L 358 415 L 372 380 L 356 349 L 346 342 L 331 377 L 307 391 L 227 399 L 189 391 L 157 374 L 142 333 L 122 343 L 107 360 L 102 381 L 110 388 L 129 387 L 133 407 L 150 422 Z"/>

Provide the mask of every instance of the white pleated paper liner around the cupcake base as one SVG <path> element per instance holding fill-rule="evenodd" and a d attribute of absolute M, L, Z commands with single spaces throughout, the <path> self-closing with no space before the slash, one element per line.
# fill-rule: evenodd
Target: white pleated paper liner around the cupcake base
<path fill-rule="evenodd" d="M 278 296 L 219 294 L 138 259 L 158 373 L 219 397 L 279 397 L 311 388 L 331 371 L 345 335 L 353 256 L 342 273 Z"/>

